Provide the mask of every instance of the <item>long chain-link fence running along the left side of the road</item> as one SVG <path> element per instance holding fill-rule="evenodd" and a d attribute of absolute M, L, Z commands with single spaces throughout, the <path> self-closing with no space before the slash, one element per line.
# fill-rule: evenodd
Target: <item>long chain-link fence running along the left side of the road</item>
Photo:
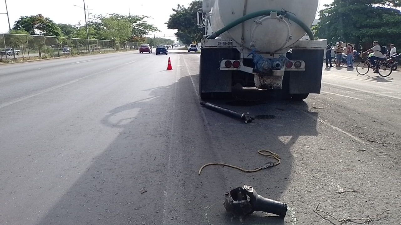
<path fill-rule="evenodd" d="M 117 42 L 24 34 L 0 34 L 0 62 L 138 50 L 136 42 Z"/>

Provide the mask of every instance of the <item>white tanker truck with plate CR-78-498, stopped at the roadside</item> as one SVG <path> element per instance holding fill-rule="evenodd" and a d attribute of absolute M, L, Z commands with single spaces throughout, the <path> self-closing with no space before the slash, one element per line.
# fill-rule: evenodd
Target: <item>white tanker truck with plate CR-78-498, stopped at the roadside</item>
<path fill-rule="evenodd" d="M 202 99 L 256 87 L 284 99 L 320 94 L 324 48 L 310 30 L 319 0 L 203 0 Z M 300 40 L 308 34 L 310 40 Z M 262 91 L 262 90 L 261 90 Z"/>

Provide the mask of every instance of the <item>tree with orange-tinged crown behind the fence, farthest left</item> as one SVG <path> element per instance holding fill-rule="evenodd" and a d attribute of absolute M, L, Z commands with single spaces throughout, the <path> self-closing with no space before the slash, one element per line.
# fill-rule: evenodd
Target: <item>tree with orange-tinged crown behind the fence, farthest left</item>
<path fill-rule="evenodd" d="M 42 16 L 42 14 L 21 16 L 19 20 L 15 21 L 12 30 L 24 30 L 31 35 L 63 36 L 59 26 L 53 20 Z M 45 46 L 45 38 L 34 38 L 31 45 L 38 47 L 39 57 L 42 58 L 42 48 Z"/>

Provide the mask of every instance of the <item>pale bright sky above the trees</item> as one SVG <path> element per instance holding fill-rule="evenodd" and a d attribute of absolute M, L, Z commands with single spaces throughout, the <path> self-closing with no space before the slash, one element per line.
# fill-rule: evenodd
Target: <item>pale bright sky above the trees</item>
<path fill-rule="evenodd" d="M 302 1 L 302 0 L 300 0 Z M 178 4 L 188 6 L 192 0 L 85 0 L 89 10 L 89 18 L 93 15 L 117 13 L 128 15 L 151 16 L 147 22 L 154 24 L 160 32 L 155 36 L 175 39 L 176 30 L 167 29 L 165 22 L 173 14 L 172 8 Z M 324 4 L 330 4 L 332 0 L 320 0 L 320 9 Z M 76 6 L 74 6 L 76 5 Z M 81 8 L 79 8 L 81 7 Z M 21 16 L 42 14 L 56 23 L 63 24 L 85 24 L 83 0 L 7 0 L 8 14 L 11 27 Z M 319 9 L 319 10 L 320 10 Z M 0 13 L 5 13 L 6 7 L 0 0 Z M 8 32 L 8 21 L 6 14 L 0 14 L 0 32 Z M 152 33 L 153 35 L 153 33 Z"/>

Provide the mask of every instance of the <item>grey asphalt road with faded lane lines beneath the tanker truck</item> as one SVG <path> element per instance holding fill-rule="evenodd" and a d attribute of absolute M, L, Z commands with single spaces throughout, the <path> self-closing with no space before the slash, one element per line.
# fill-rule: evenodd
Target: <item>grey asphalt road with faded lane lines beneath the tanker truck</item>
<path fill-rule="evenodd" d="M 253 90 L 239 90 L 247 100 L 213 101 L 258 117 L 245 124 L 200 106 L 198 56 L 0 66 L 0 224 L 325 225 L 379 215 L 371 224 L 399 224 L 400 72 L 324 70 L 322 94 L 302 102 Z M 259 149 L 281 164 L 198 175 L 205 163 L 272 161 Z M 224 193 L 242 184 L 288 203 L 286 218 L 227 215 Z"/>

